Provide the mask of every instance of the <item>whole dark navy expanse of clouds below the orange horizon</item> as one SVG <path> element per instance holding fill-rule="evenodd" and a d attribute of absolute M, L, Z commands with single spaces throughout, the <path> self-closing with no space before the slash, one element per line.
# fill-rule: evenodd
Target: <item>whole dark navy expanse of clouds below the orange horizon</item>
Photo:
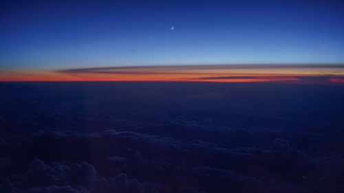
<path fill-rule="evenodd" d="M 344 190 L 339 84 L 2 87 L 0 192 Z"/>

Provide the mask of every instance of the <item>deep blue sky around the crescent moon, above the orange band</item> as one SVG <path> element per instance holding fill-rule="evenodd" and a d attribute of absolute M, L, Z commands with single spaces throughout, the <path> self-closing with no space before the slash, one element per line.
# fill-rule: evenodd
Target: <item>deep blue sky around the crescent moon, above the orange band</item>
<path fill-rule="evenodd" d="M 0 65 L 344 63 L 343 10 L 343 1 L 1 1 Z"/>

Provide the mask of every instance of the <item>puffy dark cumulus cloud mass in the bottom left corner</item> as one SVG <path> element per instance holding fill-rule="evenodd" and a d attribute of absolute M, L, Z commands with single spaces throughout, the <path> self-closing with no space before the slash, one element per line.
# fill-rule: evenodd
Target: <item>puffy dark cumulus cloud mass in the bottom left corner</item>
<path fill-rule="evenodd" d="M 171 192 L 169 185 L 155 181 L 138 182 L 128 179 L 127 174 L 116 174 L 104 178 L 96 176 L 94 166 L 89 163 L 58 162 L 44 163 L 34 159 L 25 174 L 3 179 L 1 192 Z"/>

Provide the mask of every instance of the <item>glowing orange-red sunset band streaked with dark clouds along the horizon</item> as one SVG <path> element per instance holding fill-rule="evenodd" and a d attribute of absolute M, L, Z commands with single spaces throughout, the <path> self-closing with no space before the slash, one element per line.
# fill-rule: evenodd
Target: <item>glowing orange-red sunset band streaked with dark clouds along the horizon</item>
<path fill-rule="evenodd" d="M 0 73 L 2 81 L 344 82 L 344 65 L 175 65 Z"/>

